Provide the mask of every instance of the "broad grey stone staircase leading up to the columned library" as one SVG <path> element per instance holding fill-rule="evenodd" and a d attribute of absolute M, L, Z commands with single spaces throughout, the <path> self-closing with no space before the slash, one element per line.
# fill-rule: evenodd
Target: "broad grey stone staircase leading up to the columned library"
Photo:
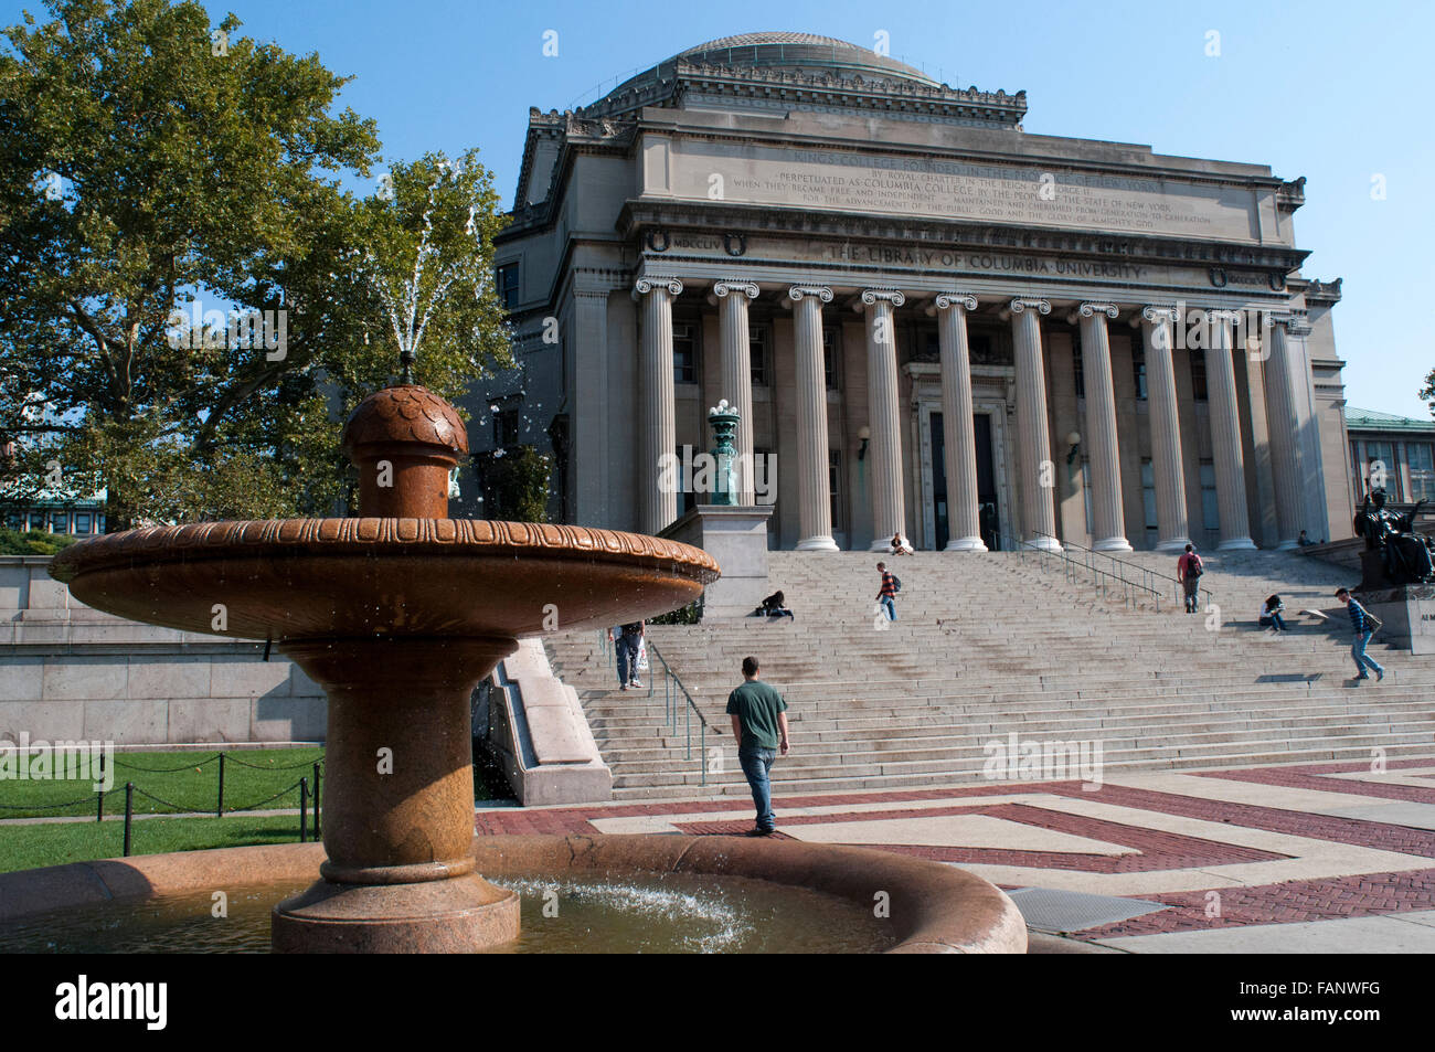
<path fill-rule="evenodd" d="M 773 768 L 776 792 L 974 782 L 992 742 L 1099 742 L 1105 769 L 1428 755 L 1435 739 L 1435 657 L 1372 644 L 1383 683 L 1355 685 L 1349 620 L 1333 598 L 1342 567 L 1286 553 L 1214 553 L 1203 586 L 1215 619 L 1128 609 L 1081 574 L 1035 555 L 918 553 L 885 557 L 903 580 L 898 620 L 875 616 L 880 555 L 771 553 L 771 581 L 796 620 L 653 626 L 709 723 L 703 785 L 697 720 L 692 756 L 679 700 L 676 733 L 656 689 L 620 692 L 598 633 L 547 640 L 554 670 L 575 687 L 616 797 L 746 794 L 728 692 L 743 656 L 789 706 L 794 752 Z M 1171 574 L 1170 555 L 1122 558 Z M 1086 578 L 1089 581 L 1089 578 Z M 1293 631 L 1254 627 L 1280 593 Z M 1330 621 L 1300 617 L 1323 610 Z"/>

